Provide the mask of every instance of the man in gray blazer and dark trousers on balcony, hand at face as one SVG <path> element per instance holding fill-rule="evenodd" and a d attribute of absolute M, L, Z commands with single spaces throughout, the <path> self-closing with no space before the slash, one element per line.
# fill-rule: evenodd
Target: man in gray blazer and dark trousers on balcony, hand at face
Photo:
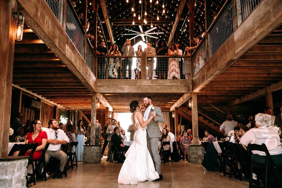
<path fill-rule="evenodd" d="M 127 41 L 123 44 L 121 50 L 124 51 L 124 56 L 134 56 L 134 48 L 130 46 L 131 41 L 127 39 Z M 126 79 L 126 70 L 128 65 L 128 79 L 131 79 L 131 67 L 132 67 L 132 58 L 122 58 L 122 74 L 123 79 Z"/>

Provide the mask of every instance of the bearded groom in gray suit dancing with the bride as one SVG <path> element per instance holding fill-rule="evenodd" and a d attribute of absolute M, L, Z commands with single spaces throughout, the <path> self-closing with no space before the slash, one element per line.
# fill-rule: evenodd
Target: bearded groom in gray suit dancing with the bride
<path fill-rule="evenodd" d="M 152 105 L 152 97 L 147 95 L 143 98 L 143 103 L 146 108 L 143 113 L 143 117 L 147 120 L 150 114 L 153 115 L 153 119 L 146 126 L 147 129 L 147 147 L 155 163 L 155 170 L 159 174 L 162 180 L 162 169 L 161 169 L 161 157 L 158 152 L 158 143 L 161 137 L 159 122 L 164 122 L 164 115 L 159 107 Z"/>

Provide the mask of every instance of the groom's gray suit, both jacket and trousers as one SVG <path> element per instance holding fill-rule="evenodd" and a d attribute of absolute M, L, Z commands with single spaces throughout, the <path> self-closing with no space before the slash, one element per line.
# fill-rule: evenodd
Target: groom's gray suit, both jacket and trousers
<path fill-rule="evenodd" d="M 154 110 L 152 109 L 154 108 Z M 159 128 L 159 122 L 164 122 L 164 115 L 162 115 L 162 110 L 159 107 L 152 106 L 148 117 L 150 117 L 151 112 L 156 113 L 156 119 L 152 119 L 147 125 L 147 147 L 155 163 L 155 170 L 158 174 L 162 174 L 161 169 L 161 157 L 158 152 L 158 142 L 161 137 L 161 132 Z M 145 115 L 145 111 L 143 116 Z"/>

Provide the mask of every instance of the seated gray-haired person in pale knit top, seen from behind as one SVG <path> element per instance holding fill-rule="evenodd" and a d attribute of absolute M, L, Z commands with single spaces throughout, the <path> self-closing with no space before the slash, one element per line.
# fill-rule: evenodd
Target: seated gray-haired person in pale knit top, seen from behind
<path fill-rule="evenodd" d="M 280 137 L 278 132 L 269 127 L 271 125 L 271 115 L 258 113 L 255 115 L 255 121 L 256 129 L 250 129 L 248 132 L 246 132 L 244 136 L 241 137 L 240 144 L 242 144 L 243 147 L 248 144 L 265 144 L 274 164 L 276 167 L 278 167 L 277 170 L 281 178 L 282 172 L 279 168 L 282 167 L 282 147 L 280 145 Z M 251 157 L 254 163 L 265 164 L 265 152 L 254 150 L 252 153 L 253 155 Z M 275 182 L 277 182 L 277 179 L 271 174 L 271 170 L 268 172 L 270 173 L 267 174 L 269 177 L 268 186 L 275 187 Z M 258 170 L 256 174 L 261 176 L 261 180 L 264 182 L 264 170 Z"/>

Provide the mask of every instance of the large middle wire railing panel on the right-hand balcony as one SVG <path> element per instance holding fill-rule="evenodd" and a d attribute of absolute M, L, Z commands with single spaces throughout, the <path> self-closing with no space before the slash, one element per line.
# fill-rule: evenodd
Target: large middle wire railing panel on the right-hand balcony
<path fill-rule="evenodd" d="M 207 31 L 209 36 L 209 57 L 222 46 L 234 32 L 232 1 L 228 1 L 220 11 L 213 25 Z"/>

